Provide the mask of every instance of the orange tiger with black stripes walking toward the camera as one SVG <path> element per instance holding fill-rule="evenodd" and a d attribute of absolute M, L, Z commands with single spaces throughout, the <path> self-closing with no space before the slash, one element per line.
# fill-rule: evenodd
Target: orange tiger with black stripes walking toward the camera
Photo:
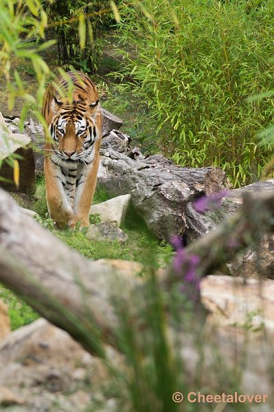
<path fill-rule="evenodd" d="M 68 71 L 48 84 L 42 114 L 49 216 L 60 229 L 88 227 L 102 139 L 98 90 L 84 73 Z"/>

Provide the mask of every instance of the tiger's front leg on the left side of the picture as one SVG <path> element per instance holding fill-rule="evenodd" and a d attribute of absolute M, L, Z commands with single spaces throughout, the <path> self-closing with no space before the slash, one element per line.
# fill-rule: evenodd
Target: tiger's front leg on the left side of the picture
<path fill-rule="evenodd" d="M 73 210 L 66 194 L 67 176 L 64 170 L 53 163 L 49 157 L 45 158 L 44 169 L 49 215 L 56 222 L 56 226 L 63 229 L 67 227 L 73 216 Z"/>

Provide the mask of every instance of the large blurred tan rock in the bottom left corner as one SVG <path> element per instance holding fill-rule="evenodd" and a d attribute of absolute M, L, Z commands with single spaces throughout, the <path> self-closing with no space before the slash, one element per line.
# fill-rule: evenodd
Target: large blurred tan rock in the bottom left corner
<path fill-rule="evenodd" d="M 0 343 L 0 371 L 0 402 L 18 404 L 19 412 L 84 411 L 108 378 L 99 358 L 45 319 Z"/>

